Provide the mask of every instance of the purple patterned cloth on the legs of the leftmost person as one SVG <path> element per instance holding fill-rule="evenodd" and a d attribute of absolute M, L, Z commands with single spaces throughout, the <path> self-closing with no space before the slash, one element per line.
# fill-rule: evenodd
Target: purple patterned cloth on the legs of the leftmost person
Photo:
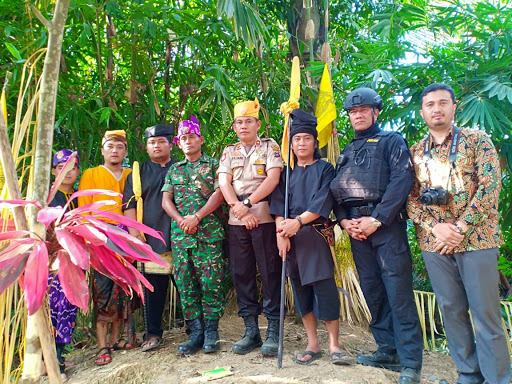
<path fill-rule="evenodd" d="M 50 274 L 48 276 L 48 305 L 54 330 L 55 342 L 69 344 L 75 327 L 76 313 L 78 308 L 71 304 L 59 281 L 59 276 Z"/>

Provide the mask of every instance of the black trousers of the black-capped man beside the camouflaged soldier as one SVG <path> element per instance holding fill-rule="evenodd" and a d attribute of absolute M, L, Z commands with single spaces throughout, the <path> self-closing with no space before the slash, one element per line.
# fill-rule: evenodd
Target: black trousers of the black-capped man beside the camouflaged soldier
<path fill-rule="evenodd" d="M 146 323 L 146 340 L 152 336 L 162 337 L 162 315 L 165 308 L 165 299 L 169 290 L 169 278 L 171 275 L 147 273 L 146 279 L 151 283 L 154 291 L 144 288 L 144 311 Z"/>

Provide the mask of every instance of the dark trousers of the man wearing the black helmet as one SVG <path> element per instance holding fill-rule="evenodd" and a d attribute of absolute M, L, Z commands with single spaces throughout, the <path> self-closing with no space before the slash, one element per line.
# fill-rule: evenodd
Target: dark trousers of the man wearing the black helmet
<path fill-rule="evenodd" d="M 421 369 L 423 341 L 406 223 L 382 226 L 367 240 L 350 238 L 350 243 L 379 350 L 396 351 L 402 367 Z"/>

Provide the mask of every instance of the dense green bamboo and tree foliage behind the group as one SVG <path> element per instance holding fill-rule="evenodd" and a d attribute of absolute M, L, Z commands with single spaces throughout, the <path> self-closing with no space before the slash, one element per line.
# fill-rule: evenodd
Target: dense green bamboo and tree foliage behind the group
<path fill-rule="evenodd" d="M 320 12 L 324 2 L 316 1 Z M 51 2 L 39 2 L 44 15 Z M 378 90 L 379 119 L 409 143 L 425 132 L 419 94 L 435 81 L 458 99 L 459 125 L 484 129 L 503 159 L 503 229 L 512 224 L 512 9 L 505 2 L 425 0 L 339 1 L 329 4 L 328 42 L 340 145 L 352 138 L 342 111 L 358 86 Z M 235 139 L 233 105 L 258 97 L 262 136 L 280 139 L 279 106 L 288 99 L 290 41 L 300 15 L 293 2 L 242 0 L 76 0 L 71 4 L 63 60 L 55 143 L 80 150 L 83 168 L 100 163 L 107 129 L 128 132 L 129 162 L 146 158 L 143 131 L 195 114 L 205 151 L 218 156 Z M 298 19 L 299 18 L 299 19 Z M 324 21 L 321 21 L 324 33 Z M 294 29 L 296 28 L 296 29 Z M 47 33 L 27 3 L 0 4 L 0 83 L 13 73 L 9 124 L 16 113 L 23 63 L 46 45 Z M 318 45 L 318 44 L 317 44 Z M 302 47 L 303 48 L 303 47 Z M 301 51 L 302 52 L 302 51 Z M 314 111 L 322 64 L 302 62 L 301 106 Z M 40 76 L 41 63 L 34 67 Z M 30 93 L 30 92 L 29 92 Z M 19 111 L 18 111 L 19 112 Z M 179 150 L 173 155 L 181 157 Z"/>

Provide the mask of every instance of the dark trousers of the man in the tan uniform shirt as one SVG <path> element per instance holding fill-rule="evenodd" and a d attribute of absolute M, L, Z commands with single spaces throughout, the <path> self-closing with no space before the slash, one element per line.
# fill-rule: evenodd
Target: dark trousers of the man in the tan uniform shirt
<path fill-rule="evenodd" d="M 258 316 L 262 311 L 256 283 L 259 270 L 263 314 L 269 320 L 278 320 L 282 262 L 277 250 L 276 225 L 260 224 L 252 230 L 243 225 L 230 225 L 229 265 L 237 295 L 238 316 Z"/>

